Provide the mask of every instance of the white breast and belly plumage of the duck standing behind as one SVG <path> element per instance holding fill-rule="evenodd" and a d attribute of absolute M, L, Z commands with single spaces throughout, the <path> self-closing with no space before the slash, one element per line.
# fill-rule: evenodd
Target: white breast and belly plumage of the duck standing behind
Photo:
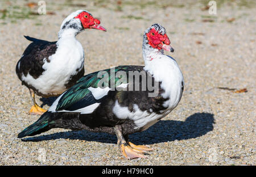
<path fill-rule="evenodd" d="M 45 58 L 46 60 L 46 58 Z M 57 42 L 56 53 L 49 57 L 50 62 L 45 61 L 45 70 L 39 78 L 34 79 L 30 74 L 22 80 L 39 90 L 42 94 L 58 95 L 65 91 L 65 83 L 71 75 L 84 67 L 84 50 L 75 37 L 60 39 Z"/>

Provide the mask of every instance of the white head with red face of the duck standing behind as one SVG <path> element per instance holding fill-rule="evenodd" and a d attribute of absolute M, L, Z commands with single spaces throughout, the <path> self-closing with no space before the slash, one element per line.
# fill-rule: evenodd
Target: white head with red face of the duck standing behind
<path fill-rule="evenodd" d="M 65 18 L 60 26 L 59 37 L 68 34 L 77 35 L 84 29 L 99 29 L 106 31 L 106 29 L 100 26 L 100 20 L 93 18 L 92 14 L 86 10 L 77 10 L 72 12 Z"/>

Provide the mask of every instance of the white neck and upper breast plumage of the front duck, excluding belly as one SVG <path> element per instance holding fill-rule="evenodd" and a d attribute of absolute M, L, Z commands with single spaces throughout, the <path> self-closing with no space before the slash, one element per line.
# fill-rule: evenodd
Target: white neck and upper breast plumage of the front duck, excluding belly
<path fill-rule="evenodd" d="M 183 74 L 180 71 L 174 58 L 166 56 L 163 50 L 143 46 L 143 58 L 145 62 L 144 70 L 148 71 L 155 81 L 161 82 L 164 89 L 163 98 L 170 98 L 164 103 L 165 107 L 173 109 L 181 98 L 181 85 Z"/>

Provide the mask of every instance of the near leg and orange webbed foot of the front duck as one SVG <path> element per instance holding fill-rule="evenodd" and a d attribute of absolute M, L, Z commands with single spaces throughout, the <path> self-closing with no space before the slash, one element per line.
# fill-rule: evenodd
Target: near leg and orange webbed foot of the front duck
<path fill-rule="evenodd" d="M 121 151 L 122 155 L 125 156 L 125 158 L 127 159 L 146 158 L 146 156 L 143 155 L 144 153 L 143 150 L 135 149 L 127 144 L 125 137 L 123 137 L 123 134 L 122 134 L 121 125 L 115 125 L 114 130 L 115 130 L 115 134 L 117 134 L 117 144 L 118 144 L 119 150 Z"/>

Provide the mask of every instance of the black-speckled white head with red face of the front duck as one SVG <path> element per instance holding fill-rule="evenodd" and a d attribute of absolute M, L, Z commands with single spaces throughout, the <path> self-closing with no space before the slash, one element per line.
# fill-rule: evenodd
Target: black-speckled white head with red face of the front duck
<path fill-rule="evenodd" d="M 160 24 L 152 24 L 147 28 L 143 36 L 143 50 L 167 50 L 174 52 L 174 48 L 170 45 L 170 39 L 166 35 L 166 29 Z"/>

